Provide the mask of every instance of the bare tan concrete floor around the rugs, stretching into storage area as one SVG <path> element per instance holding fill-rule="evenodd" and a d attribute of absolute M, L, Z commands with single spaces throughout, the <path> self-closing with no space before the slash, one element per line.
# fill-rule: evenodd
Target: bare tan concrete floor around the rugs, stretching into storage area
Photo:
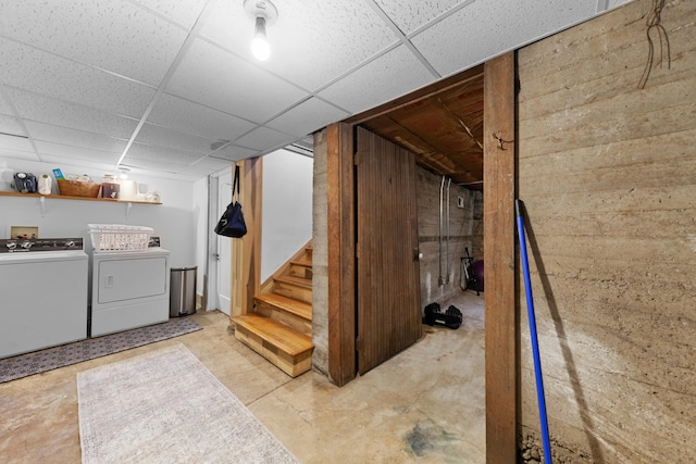
<path fill-rule="evenodd" d="M 78 463 L 76 373 L 184 343 L 302 463 L 483 463 L 483 296 L 448 304 L 461 327 L 423 326 L 418 343 L 343 388 L 315 372 L 291 379 L 237 341 L 224 314 L 198 312 L 203 330 L 1 384 L 0 462 Z"/>

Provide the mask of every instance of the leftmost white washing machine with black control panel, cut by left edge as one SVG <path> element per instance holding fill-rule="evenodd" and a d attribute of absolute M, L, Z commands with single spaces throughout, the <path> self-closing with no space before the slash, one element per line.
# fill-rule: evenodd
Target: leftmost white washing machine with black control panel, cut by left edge
<path fill-rule="evenodd" d="M 0 359 L 87 338 L 82 238 L 0 239 Z"/>

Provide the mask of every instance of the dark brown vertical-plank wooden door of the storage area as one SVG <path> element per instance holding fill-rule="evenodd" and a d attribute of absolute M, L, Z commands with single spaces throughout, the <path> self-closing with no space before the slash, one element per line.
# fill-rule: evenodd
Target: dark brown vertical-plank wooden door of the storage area
<path fill-rule="evenodd" d="M 415 155 L 357 128 L 358 372 L 422 336 Z"/>

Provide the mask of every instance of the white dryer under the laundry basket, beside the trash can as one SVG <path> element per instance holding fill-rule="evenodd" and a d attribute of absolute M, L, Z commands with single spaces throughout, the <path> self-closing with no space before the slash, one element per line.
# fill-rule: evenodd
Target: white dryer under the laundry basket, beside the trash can
<path fill-rule="evenodd" d="M 170 315 L 170 252 L 91 251 L 90 336 L 163 323 Z"/>

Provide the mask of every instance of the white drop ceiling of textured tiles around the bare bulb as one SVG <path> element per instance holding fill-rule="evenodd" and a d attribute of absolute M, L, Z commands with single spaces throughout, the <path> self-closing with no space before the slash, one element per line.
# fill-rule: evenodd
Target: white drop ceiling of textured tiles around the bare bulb
<path fill-rule="evenodd" d="M 289 145 L 307 152 L 327 124 L 625 0 L 273 2 L 259 62 L 243 0 L 0 0 L 0 162 L 192 181 Z M 476 85 L 432 106 L 467 112 Z M 414 111 L 394 117 L 412 125 Z M 475 180 L 439 139 L 421 160 Z"/>

